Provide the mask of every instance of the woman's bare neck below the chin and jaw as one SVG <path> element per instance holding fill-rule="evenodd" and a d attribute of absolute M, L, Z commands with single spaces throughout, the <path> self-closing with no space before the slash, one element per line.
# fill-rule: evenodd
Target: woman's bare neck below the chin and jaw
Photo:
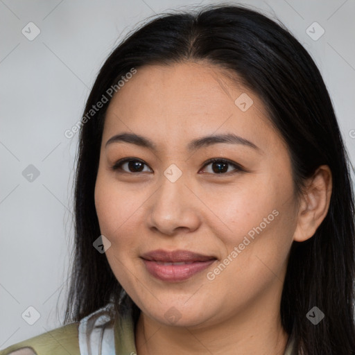
<path fill-rule="evenodd" d="M 178 327 L 157 322 L 141 312 L 137 322 L 137 354 L 283 355 L 288 341 L 279 303 L 250 306 L 223 322 Z"/>

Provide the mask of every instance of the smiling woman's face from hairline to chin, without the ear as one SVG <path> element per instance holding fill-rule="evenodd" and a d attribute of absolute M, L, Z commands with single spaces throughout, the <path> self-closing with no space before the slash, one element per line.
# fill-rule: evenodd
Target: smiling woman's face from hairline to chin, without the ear
<path fill-rule="evenodd" d="M 107 143 L 123 133 L 155 149 Z M 218 135 L 239 138 L 191 143 Z M 297 224 L 291 160 L 261 101 L 218 67 L 137 69 L 107 109 L 95 203 L 114 275 L 151 320 L 205 327 L 279 310 Z"/>

